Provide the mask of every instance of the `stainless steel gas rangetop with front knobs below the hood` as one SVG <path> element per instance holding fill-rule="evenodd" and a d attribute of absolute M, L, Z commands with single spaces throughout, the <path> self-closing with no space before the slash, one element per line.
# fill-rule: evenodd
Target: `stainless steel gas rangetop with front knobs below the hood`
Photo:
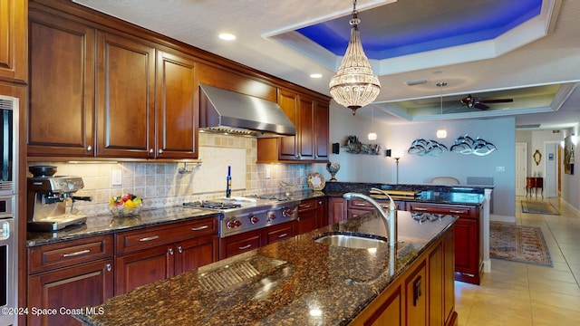
<path fill-rule="evenodd" d="M 298 217 L 298 201 L 232 197 L 217 201 L 183 203 L 184 207 L 206 208 L 219 213 L 219 237 L 237 235 L 270 225 L 293 221 Z"/>

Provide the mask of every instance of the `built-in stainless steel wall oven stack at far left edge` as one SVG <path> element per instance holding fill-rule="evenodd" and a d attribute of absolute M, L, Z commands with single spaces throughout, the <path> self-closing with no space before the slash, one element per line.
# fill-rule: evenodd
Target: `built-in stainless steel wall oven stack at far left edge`
<path fill-rule="evenodd" d="M 0 325 L 16 325 L 18 302 L 18 99 L 0 95 Z"/>

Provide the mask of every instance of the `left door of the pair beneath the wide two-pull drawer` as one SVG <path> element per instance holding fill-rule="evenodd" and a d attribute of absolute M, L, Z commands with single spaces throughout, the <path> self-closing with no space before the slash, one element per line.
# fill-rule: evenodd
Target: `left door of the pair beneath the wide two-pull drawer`
<path fill-rule="evenodd" d="M 173 245 L 160 245 L 115 260 L 115 295 L 173 276 Z"/>

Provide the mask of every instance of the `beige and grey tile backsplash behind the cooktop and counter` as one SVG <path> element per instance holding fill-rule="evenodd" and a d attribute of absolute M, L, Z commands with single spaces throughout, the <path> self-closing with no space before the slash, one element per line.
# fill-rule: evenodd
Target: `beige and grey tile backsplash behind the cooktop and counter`
<path fill-rule="evenodd" d="M 281 183 L 290 185 L 292 191 L 307 190 L 306 177 L 311 164 L 256 164 L 257 140 L 255 138 L 199 133 L 200 164 L 148 162 L 64 163 L 34 162 L 30 165 L 53 165 L 57 175 L 82 177 L 84 188 L 76 196 L 90 196 L 91 202 L 74 205 L 88 216 L 109 213 L 109 199 L 124 193 L 143 198 L 143 206 L 159 208 L 179 206 L 183 202 L 218 199 L 226 194 L 227 166 L 237 162 L 237 179 L 232 197 L 257 194 L 278 194 Z M 244 158 L 244 149 L 245 158 Z M 221 155 L 223 151 L 223 155 Z M 207 155 L 202 153 L 217 153 Z M 179 173 L 188 168 L 190 173 Z M 121 186 L 112 186 L 113 170 L 121 170 Z M 245 176 L 245 177 L 244 177 Z M 29 177 L 32 175 L 29 174 Z M 244 180 L 239 180 L 245 178 Z M 216 185 L 223 185 L 223 189 Z"/>

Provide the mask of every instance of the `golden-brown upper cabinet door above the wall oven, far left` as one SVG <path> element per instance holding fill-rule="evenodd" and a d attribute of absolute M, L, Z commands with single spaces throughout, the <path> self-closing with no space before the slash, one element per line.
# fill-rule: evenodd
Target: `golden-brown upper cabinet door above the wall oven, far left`
<path fill-rule="evenodd" d="M 24 0 L 0 0 L 0 81 L 26 82 Z"/>

